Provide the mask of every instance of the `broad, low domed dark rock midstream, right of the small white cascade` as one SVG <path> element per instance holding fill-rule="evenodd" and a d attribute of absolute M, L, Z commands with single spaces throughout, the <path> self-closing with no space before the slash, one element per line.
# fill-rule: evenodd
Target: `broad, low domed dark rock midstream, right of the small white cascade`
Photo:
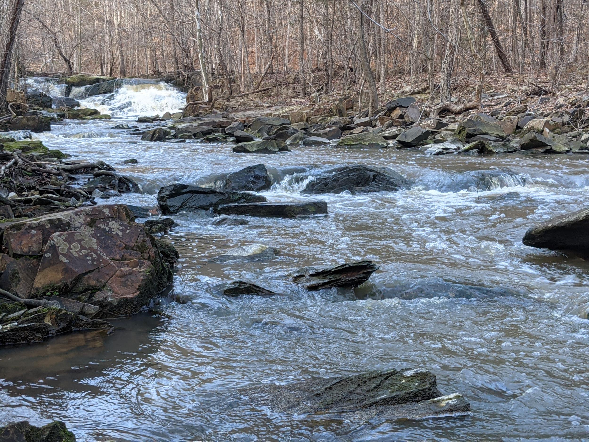
<path fill-rule="evenodd" d="M 328 170 L 307 184 L 301 193 L 394 192 L 407 187 L 411 187 L 411 182 L 391 169 L 359 164 Z"/>

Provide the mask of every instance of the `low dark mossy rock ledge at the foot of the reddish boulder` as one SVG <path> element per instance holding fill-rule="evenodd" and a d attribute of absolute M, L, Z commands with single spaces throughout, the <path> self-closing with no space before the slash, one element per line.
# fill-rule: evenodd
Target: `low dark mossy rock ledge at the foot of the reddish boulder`
<path fill-rule="evenodd" d="M 2 311 L 20 309 L 24 304 L 5 302 L 0 298 L 0 345 L 41 342 L 53 336 L 81 330 L 112 331 L 109 322 L 89 317 L 98 314 L 98 306 L 60 296 L 52 296 L 50 302 L 51 306 L 32 309 L 25 307 L 12 314 L 1 315 Z M 2 440 L 0 430 L 0 441 Z"/>

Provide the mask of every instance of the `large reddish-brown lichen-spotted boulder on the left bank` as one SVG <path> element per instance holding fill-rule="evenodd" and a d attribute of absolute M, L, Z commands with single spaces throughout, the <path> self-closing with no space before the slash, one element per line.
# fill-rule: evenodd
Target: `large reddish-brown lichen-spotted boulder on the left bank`
<path fill-rule="evenodd" d="M 83 207 L 6 226 L 0 288 L 21 298 L 48 292 L 133 314 L 171 282 L 151 235 L 123 204 Z"/>

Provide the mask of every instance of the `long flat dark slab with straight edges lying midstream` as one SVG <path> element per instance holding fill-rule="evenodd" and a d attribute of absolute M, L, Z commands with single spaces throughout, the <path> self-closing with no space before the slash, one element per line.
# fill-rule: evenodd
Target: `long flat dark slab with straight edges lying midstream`
<path fill-rule="evenodd" d="M 219 215 L 244 215 L 272 218 L 292 218 L 297 216 L 326 215 L 325 201 L 289 203 L 243 203 L 218 206 L 214 212 Z"/>

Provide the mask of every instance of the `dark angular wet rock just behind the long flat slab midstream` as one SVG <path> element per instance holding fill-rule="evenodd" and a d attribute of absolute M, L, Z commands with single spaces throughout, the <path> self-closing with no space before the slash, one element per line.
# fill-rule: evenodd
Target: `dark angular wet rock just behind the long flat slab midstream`
<path fill-rule="evenodd" d="M 266 198 L 263 196 L 252 193 L 214 190 L 208 187 L 188 186 L 188 184 L 171 184 L 171 186 L 162 187 L 157 194 L 157 202 L 164 215 L 182 211 L 209 210 L 220 204 L 265 201 Z"/>

